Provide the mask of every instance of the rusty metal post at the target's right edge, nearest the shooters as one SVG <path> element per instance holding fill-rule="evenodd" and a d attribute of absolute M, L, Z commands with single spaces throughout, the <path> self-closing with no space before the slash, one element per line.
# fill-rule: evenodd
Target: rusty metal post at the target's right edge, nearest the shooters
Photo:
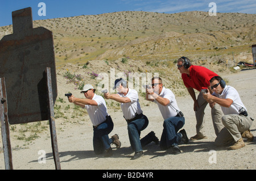
<path fill-rule="evenodd" d="M 51 68 L 46 68 L 46 79 L 47 79 L 47 91 L 48 91 L 48 112 L 49 112 L 49 127 L 51 132 L 52 142 L 52 153 L 55 162 L 55 169 L 60 170 L 60 157 L 57 146 L 57 135 L 54 118 L 54 106 L 53 106 L 53 95 L 52 95 L 52 79 L 51 79 Z"/>

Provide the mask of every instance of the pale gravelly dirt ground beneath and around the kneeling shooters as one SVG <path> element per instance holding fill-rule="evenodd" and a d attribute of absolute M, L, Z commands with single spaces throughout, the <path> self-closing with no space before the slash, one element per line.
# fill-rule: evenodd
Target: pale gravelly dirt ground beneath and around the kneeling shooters
<path fill-rule="evenodd" d="M 249 115 L 254 119 L 256 119 L 255 75 L 256 69 L 251 69 L 222 76 L 224 79 L 228 80 L 228 85 L 238 90 Z M 188 137 L 190 138 L 196 134 L 193 101 L 190 96 L 178 96 L 176 100 L 185 116 L 185 125 L 183 128 L 187 131 Z M 144 115 L 150 120 L 150 123 L 148 127 L 142 131 L 141 137 L 145 136 L 150 131 L 154 131 L 156 136 L 160 139 L 163 130 L 163 118 L 162 115 L 160 115 L 157 105 L 149 103 L 149 106 L 142 106 L 142 110 Z M 112 133 L 110 133 L 110 136 L 116 133 L 119 135 L 119 140 L 122 142 L 120 149 L 115 149 L 115 146 L 112 146 L 114 154 L 113 157 L 110 158 L 102 158 L 94 154 L 92 145 L 93 129 L 90 121 L 86 121 L 86 123 L 83 124 L 71 124 L 68 128 L 60 131 L 61 121 L 56 120 L 57 144 L 61 169 L 256 169 L 256 138 L 254 138 L 253 142 L 247 142 L 245 140 L 246 146 L 238 150 L 227 150 L 227 148 L 217 148 L 214 146 L 216 135 L 214 134 L 209 106 L 207 106 L 205 110 L 205 128 L 208 139 L 189 141 L 188 144 L 180 145 L 182 153 L 178 155 L 167 154 L 166 151 L 159 149 L 159 145 L 151 143 L 144 148 L 144 156 L 136 160 L 131 160 L 134 153 L 130 148 L 127 124 L 123 119 L 121 110 L 109 110 L 109 113 L 114 122 L 114 129 Z M 251 127 L 251 132 L 256 135 L 255 123 L 253 123 Z M 55 169 L 49 133 L 40 135 L 40 138 L 29 145 L 23 146 L 24 144 L 24 141 L 19 141 L 11 137 L 14 169 Z M 44 163 L 40 163 L 38 160 L 42 157 L 43 153 L 46 154 L 46 159 Z M 216 156 L 216 160 L 213 159 L 213 156 Z M 40 161 L 42 162 L 42 159 L 40 159 Z M 216 162 L 214 163 L 213 161 Z M 3 153 L 0 154 L 0 169 L 5 169 Z"/>

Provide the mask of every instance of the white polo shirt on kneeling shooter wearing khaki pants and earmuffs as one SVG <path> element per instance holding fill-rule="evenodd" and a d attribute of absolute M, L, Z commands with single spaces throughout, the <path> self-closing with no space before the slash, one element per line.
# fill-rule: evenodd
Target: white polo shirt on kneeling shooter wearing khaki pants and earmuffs
<path fill-rule="evenodd" d="M 244 108 L 246 110 L 246 107 L 245 107 L 245 105 L 243 105 L 242 100 L 241 100 L 237 90 L 234 89 L 234 87 L 232 87 L 232 86 L 225 86 L 224 90 L 221 92 L 221 95 L 216 94 L 215 92 L 213 92 L 212 95 L 215 95 L 221 99 L 232 99 L 233 100 L 233 103 L 231 104 L 231 106 L 229 108 L 221 106 L 221 110 L 223 111 L 224 115 L 230 115 L 230 114 L 239 115 L 239 110 L 241 108 Z"/>

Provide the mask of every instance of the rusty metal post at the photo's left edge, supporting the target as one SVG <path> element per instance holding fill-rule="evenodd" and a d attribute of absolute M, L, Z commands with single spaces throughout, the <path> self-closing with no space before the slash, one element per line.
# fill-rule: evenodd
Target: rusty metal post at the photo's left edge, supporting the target
<path fill-rule="evenodd" d="M 5 157 L 5 169 L 13 170 L 5 78 L 0 78 L 0 99 L 1 132 L 3 141 L 3 155 Z"/>

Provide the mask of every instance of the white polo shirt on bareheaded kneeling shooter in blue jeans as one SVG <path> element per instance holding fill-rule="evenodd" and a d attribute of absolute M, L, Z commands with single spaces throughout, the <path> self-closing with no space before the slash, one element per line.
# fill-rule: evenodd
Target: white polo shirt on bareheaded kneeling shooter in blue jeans
<path fill-rule="evenodd" d="M 167 106 L 163 106 L 157 100 L 154 100 L 154 102 L 158 104 L 158 108 L 162 113 L 163 119 L 166 120 L 169 117 L 175 117 L 177 115 L 177 112 L 180 112 L 180 109 L 177 106 L 174 93 L 170 89 L 166 89 L 165 87 L 163 87 L 162 92 L 159 96 L 170 100 L 170 103 Z"/>

